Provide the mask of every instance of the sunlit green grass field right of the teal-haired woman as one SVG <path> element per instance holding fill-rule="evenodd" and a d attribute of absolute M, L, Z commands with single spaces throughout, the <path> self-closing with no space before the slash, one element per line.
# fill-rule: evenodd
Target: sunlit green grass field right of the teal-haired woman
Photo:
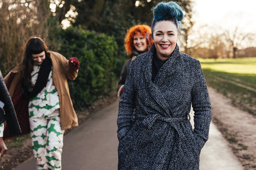
<path fill-rule="evenodd" d="M 233 105 L 256 115 L 256 57 L 199 61 L 208 86 L 229 97 Z"/>

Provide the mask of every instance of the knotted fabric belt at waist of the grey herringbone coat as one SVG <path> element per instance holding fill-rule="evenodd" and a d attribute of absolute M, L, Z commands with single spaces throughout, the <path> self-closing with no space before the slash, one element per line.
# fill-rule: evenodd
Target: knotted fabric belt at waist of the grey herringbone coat
<path fill-rule="evenodd" d="M 143 120 L 143 125 L 148 126 L 148 129 L 153 126 L 156 120 L 164 121 L 171 124 L 189 121 L 188 117 L 164 117 L 159 113 L 149 114 L 147 116 L 135 114 L 135 119 Z"/>

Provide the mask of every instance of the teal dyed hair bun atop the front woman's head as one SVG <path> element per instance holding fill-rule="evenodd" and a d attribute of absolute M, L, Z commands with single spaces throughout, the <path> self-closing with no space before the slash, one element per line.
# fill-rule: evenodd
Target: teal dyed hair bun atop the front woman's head
<path fill-rule="evenodd" d="M 182 8 L 175 2 L 159 3 L 154 8 L 154 19 L 156 21 L 177 19 L 181 21 L 184 17 Z"/>

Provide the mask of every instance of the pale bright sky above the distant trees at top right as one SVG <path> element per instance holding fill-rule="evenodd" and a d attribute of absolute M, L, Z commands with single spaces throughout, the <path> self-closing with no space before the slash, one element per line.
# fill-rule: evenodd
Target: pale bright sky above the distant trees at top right
<path fill-rule="evenodd" d="M 255 0 L 193 0 L 196 24 L 256 32 Z"/>

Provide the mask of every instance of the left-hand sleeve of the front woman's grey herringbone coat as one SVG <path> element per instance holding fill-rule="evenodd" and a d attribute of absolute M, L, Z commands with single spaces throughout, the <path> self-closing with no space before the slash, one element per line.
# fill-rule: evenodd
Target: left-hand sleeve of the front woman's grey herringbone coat
<path fill-rule="evenodd" d="M 117 137 L 122 140 L 127 132 L 130 131 L 132 125 L 132 115 L 135 109 L 135 88 L 134 88 L 134 75 L 133 64 L 129 67 L 129 72 L 124 84 L 123 94 L 119 100 L 119 110 L 117 117 Z"/>

